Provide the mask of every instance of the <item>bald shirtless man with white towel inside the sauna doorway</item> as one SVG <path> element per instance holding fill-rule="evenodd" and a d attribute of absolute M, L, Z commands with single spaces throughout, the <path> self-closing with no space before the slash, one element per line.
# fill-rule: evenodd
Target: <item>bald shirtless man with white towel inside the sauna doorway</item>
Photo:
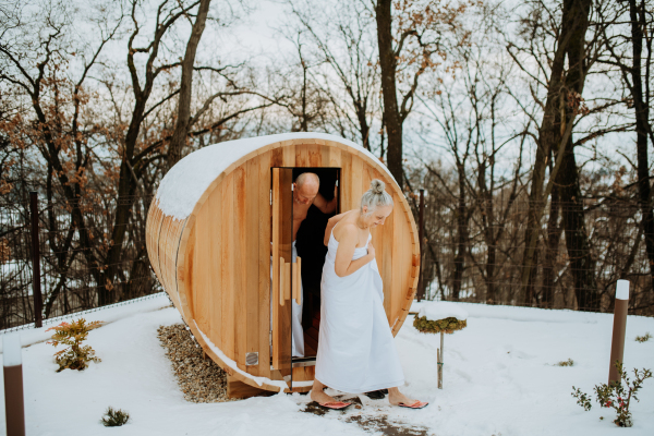
<path fill-rule="evenodd" d="M 293 259 L 292 262 L 296 262 L 298 250 L 295 249 L 295 237 L 298 235 L 298 230 L 302 225 L 302 221 L 306 218 L 308 214 L 308 208 L 313 204 L 316 206 L 323 214 L 331 214 L 336 210 L 337 197 L 336 197 L 336 189 L 334 199 L 328 202 L 325 199 L 323 195 L 318 192 L 320 187 L 320 180 L 318 175 L 313 172 L 303 172 L 298 175 L 295 182 L 293 183 Z M 300 284 L 301 292 L 301 304 L 295 303 L 293 300 L 293 318 L 292 318 L 292 330 L 293 330 L 293 350 L 292 355 L 296 358 L 304 356 L 304 331 L 302 330 L 302 305 L 304 304 L 304 293 L 302 289 L 302 284 Z"/>

